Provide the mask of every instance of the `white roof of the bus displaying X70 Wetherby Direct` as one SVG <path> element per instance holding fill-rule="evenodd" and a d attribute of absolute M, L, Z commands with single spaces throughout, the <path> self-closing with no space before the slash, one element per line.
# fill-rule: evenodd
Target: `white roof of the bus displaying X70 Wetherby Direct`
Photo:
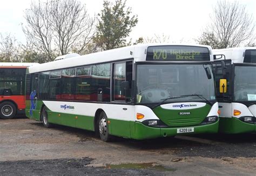
<path fill-rule="evenodd" d="M 68 67 L 76 67 L 82 65 L 90 65 L 105 62 L 114 62 L 117 60 L 134 58 L 134 62 L 143 62 L 146 60 L 146 50 L 149 46 L 201 46 L 208 48 L 210 52 L 210 59 L 213 60 L 212 48 L 208 45 L 191 45 L 191 44 L 170 44 L 170 43 L 152 43 L 152 44 L 138 44 L 132 46 L 125 46 L 102 52 L 91 53 L 89 55 L 71 57 L 66 59 L 55 60 L 52 62 L 35 65 L 29 67 L 29 73 L 42 72 L 63 69 Z"/>

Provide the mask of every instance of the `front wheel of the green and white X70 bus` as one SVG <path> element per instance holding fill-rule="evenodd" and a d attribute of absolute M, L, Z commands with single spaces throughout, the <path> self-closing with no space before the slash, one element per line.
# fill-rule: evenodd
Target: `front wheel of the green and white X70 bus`
<path fill-rule="evenodd" d="M 105 112 L 101 112 L 99 114 L 98 130 L 100 139 L 102 139 L 104 142 L 110 141 L 109 126 L 107 124 Z"/>

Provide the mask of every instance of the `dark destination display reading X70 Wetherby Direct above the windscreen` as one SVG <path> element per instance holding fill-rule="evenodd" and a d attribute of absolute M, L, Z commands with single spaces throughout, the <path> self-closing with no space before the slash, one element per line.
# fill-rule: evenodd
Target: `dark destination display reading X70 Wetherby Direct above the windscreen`
<path fill-rule="evenodd" d="M 210 60 L 209 50 L 200 46 L 149 46 L 146 60 Z"/>

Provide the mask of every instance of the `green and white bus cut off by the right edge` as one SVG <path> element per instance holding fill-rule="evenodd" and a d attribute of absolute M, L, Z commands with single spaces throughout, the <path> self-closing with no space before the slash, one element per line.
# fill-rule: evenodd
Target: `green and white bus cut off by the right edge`
<path fill-rule="evenodd" d="M 256 131 L 256 47 L 213 50 L 222 133 Z M 219 80 L 226 80 L 225 83 Z M 222 89 L 226 89 L 223 91 Z M 218 90 L 217 89 L 217 90 Z"/>

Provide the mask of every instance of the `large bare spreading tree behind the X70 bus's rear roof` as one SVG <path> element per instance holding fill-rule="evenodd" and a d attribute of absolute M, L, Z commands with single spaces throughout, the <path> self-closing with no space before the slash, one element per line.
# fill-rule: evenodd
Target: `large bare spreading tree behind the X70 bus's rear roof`
<path fill-rule="evenodd" d="M 82 52 L 96 32 L 96 18 L 91 18 L 85 5 L 77 0 L 32 2 L 24 17 L 26 38 L 48 56 L 45 61 L 53 60 L 58 54 L 65 55 L 74 48 Z"/>

